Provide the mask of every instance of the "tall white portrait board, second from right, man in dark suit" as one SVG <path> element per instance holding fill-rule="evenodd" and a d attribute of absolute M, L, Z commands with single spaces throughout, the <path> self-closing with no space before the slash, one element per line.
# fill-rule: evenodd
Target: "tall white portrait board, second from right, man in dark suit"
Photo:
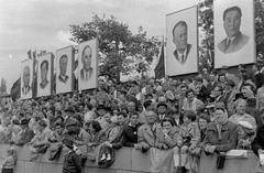
<path fill-rule="evenodd" d="M 166 75 L 198 71 L 197 6 L 166 15 Z"/>

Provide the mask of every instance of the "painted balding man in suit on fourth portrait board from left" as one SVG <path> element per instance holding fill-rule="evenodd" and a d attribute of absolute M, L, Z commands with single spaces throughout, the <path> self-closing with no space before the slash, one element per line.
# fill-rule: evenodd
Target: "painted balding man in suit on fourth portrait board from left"
<path fill-rule="evenodd" d="M 80 69 L 80 79 L 82 82 L 88 82 L 92 76 L 94 68 L 91 67 L 91 47 L 86 45 L 81 53 L 81 63 L 84 67 Z"/>

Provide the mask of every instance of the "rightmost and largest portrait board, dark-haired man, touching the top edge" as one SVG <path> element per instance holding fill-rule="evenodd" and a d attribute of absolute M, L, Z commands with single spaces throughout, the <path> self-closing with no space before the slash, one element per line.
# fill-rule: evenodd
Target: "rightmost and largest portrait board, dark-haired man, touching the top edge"
<path fill-rule="evenodd" d="M 255 61 L 254 1 L 215 0 L 215 68 Z"/>

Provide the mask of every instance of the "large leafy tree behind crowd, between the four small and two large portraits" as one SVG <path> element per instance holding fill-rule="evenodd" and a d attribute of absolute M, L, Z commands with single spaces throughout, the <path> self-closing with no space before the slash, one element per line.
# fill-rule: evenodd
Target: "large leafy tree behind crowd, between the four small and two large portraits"
<path fill-rule="evenodd" d="M 114 17 L 107 19 L 106 15 L 94 15 L 90 22 L 72 24 L 69 28 L 73 35 L 70 40 L 76 43 L 98 37 L 99 75 L 117 82 L 121 73 L 128 75 L 139 72 L 143 75 L 147 72 L 161 45 L 158 37 L 147 39 L 142 26 L 136 34 L 132 34 L 129 25 L 118 22 Z"/>

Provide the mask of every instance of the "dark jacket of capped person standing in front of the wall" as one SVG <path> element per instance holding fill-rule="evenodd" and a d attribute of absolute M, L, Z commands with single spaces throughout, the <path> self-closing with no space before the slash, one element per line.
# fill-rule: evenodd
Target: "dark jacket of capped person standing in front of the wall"
<path fill-rule="evenodd" d="M 81 173 L 80 156 L 74 150 L 65 154 L 63 173 Z"/>

